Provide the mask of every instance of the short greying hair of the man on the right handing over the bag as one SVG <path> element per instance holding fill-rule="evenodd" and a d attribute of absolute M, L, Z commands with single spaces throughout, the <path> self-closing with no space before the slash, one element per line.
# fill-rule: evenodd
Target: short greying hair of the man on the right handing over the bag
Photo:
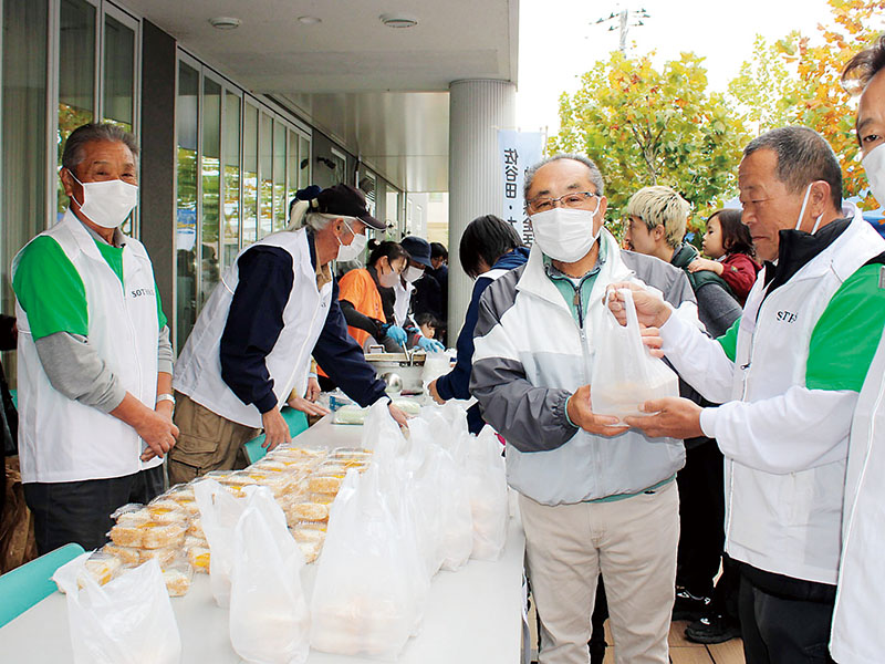
<path fill-rule="evenodd" d="M 771 129 L 750 141 L 743 156 L 758 149 L 770 149 L 778 156 L 775 175 L 790 194 L 823 180 L 830 185 L 833 207 L 842 209 L 842 169 L 833 148 L 818 132 L 799 126 Z"/>

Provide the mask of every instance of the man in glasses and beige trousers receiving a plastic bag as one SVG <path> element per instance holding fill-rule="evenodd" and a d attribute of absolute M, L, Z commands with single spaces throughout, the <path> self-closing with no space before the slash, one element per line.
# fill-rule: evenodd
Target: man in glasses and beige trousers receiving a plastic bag
<path fill-rule="evenodd" d="M 607 286 L 646 283 L 698 325 L 695 298 L 680 270 L 622 251 L 603 229 L 602 175 L 586 157 L 558 155 L 530 168 L 524 194 L 535 243 L 525 266 L 482 295 L 470 386 L 483 418 L 507 438 L 540 662 L 586 663 L 602 572 L 618 660 L 666 663 L 679 536 L 673 480 L 685 449 L 627 430 L 591 402 L 607 400 L 611 413 L 625 414 L 655 385 L 676 394 L 673 372 L 622 335 L 603 304 Z M 603 352 L 614 338 L 621 350 Z M 645 377 L 623 384 L 627 367 Z"/>

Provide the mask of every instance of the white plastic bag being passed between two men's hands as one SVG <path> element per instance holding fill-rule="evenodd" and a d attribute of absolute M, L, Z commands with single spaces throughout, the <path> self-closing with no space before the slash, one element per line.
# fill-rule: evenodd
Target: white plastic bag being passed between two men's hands
<path fill-rule="evenodd" d="M 596 335 L 590 401 L 594 413 L 620 419 L 642 413 L 639 405 L 665 396 L 679 396 L 679 378 L 658 357 L 653 357 L 642 342 L 633 292 L 624 295 L 626 326 L 621 325 L 605 307 L 602 329 Z"/>

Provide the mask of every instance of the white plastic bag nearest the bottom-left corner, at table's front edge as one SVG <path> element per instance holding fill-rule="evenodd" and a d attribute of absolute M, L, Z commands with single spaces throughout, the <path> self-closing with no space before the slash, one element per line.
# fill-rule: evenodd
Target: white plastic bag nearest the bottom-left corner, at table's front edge
<path fill-rule="evenodd" d="M 67 595 L 74 663 L 178 664 L 181 637 L 159 563 L 123 570 L 98 585 L 83 573 L 88 557 L 79 556 L 52 577 Z"/>

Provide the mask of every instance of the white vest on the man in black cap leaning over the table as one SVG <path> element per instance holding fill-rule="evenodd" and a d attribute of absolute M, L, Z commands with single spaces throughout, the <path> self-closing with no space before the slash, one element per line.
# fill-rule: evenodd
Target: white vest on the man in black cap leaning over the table
<path fill-rule="evenodd" d="M 329 314 L 332 282 L 324 284 L 322 290 L 316 289 L 316 270 L 311 263 L 305 229 L 277 232 L 257 245 L 280 247 L 292 256 L 294 281 L 283 310 L 283 329 L 273 350 L 264 359 L 268 373 L 273 378 L 277 403 L 282 406 L 292 388 L 298 387 L 299 394 L 306 388 L 311 352 Z M 219 350 L 239 282 L 239 257 L 257 245 L 240 252 L 212 291 L 178 357 L 174 378 L 178 392 L 226 419 L 254 428 L 262 426 L 261 413 L 253 404 L 242 403 L 225 383 Z"/>

